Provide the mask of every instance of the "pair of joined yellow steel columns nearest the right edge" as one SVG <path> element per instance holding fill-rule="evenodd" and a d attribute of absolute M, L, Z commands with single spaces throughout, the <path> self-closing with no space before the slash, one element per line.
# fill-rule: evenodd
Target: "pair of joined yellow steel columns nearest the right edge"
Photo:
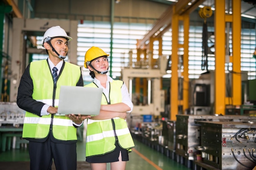
<path fill-rule="evenodd" d="M 215 0 L 215 113 L 225 114 L 229 100 L 241 105 L 241 0 L 232 0 L 232 14 L 225 14 L 225 1 Z M 232 97 L 225 96 L 225 24 L 232 23 Z"/>

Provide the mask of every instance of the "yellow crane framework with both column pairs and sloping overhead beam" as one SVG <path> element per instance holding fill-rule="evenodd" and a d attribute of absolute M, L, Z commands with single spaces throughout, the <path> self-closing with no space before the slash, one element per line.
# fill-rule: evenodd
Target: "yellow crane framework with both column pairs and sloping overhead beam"
<path fill-rule="evenodd" d="M 172 28 L 172 67 L 171 67 L 171 112 L 170 119 L 176 120 L 178 114 L 178 106 L 183 106 L 183 113 L 189 107 L 189 14 L 193 12 L 205 0 L 195 0 L 191 5 L 188 5 L 191 0 L 179 0 L 177 3 L 171 5 L 160 16 L 159 20 L 154 24 L 153 28 L 144 36 L 143 39 L 137 42 L 137 52 L 141 49 L 145 51 L 148 46 L 149 52 L 153 52 L 153 41 L 162 39 L 162 35 Z M 229 103 L 232 98 L 233 105 L 241 105 L 241 75 L 240 73 L 240 39 L 241 39 L 241 0 L 232 0 L 232 14 L 225 14 L 225 0 L 215 0 L 216 10 L 215 17 L 215 106 L 214 111 L 216 114 L 225 114 L 225 105 Z M 234 19 L 236 18 L 236 20 Z M 184 42 L 180 44 L 178 39 L 179 35 L 179 22 L 184 24 Z M 225 96 L 225 23 L 232 23 L 232 47 L 233 56 L 230 61 L 233 63 L 233 77 L 232 77 L 232 97 L 226 98 Z M 160 29 L 162 31 L 160 31 Z M 234 29 L 236 28 L 236 29 Z M 146 41 L 149 40 L 148 45 Z M 159 55 L 162 54 L 162 42 L 159 41 Z M 183 100 L 178 100 L 178 52 L 183 48 Z M 140 55 L 140 54 L 139 54 Z M 150 55 L 151 57 L 153 55 Z M 153 59 L 151 59 L 153 61 Z M 152 62 L 153 63 L 153 62 Z M 238 73 L 238 74 L 234 74 Z"/>

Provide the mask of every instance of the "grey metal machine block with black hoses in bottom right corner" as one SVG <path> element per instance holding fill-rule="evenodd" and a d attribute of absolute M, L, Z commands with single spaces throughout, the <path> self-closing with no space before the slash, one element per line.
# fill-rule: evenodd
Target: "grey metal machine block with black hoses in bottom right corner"
<path fill-rule="evenodd" d="M 200 167 L 220 170 L 252 170 L 256 166 L 256 120 L 240 122 L 196 121 L 200 124 Z"/>

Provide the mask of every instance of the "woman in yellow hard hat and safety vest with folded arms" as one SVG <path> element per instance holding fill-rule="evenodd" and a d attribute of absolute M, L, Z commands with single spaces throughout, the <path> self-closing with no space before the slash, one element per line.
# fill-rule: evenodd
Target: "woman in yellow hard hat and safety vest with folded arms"
<path fill-rule="evenodd" d="M 133 105 L 124 82 L 107 76 L 108 56 L 94 46 L 85 53 L 84 66 L 94 78 L 85 87 L 103 88 L 101 111 L 87 122 L 86 161 L 92 170 L 106 170 L 109 162 L 111 170 L 125 170 L 128 153 L 134 148 L 126 124 L 126 112 Z"/>

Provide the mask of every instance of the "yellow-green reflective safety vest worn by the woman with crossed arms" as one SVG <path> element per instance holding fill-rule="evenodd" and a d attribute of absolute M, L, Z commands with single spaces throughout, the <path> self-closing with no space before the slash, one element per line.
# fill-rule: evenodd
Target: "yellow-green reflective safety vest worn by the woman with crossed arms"
<path fill-rule="evenodd" d="M 121 87 L 123 81 L 113 80 L 110 83 L 110 103 L 115 104 L 122 102 Z M 85 85 L 85 87 L 97 87 L 94 83 Z M 106 96 L 102 94 L 101 105 L 108 105 Z M 132 136 L 128 129 L 126 120 L 121 118 L 112 118 L 107 120 L 87 120 L 87 137 L 86 137 L 86 157 L 103 155 L 110 153 L 115 149 L 115 142 L 121 148 L 131 152 L 134 148 Z"/>

